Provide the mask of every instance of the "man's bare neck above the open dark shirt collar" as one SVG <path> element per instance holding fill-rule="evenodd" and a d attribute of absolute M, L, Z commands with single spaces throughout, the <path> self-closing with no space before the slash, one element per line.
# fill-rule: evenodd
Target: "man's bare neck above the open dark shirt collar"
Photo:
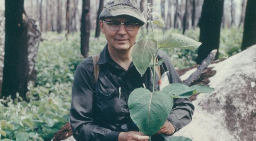
<path fill-rule="evenodd" d="M 128 70 L 132 62 L 131 50 L 132 47 L 129 48 L 129 50 L 115 50 L 113 48 L 110 49 L 110 47 L 108 47 L 109 55 L 113 59 L 113 61 L 115 61 L 117 64 L 119 64 L 126 70 Z"/>

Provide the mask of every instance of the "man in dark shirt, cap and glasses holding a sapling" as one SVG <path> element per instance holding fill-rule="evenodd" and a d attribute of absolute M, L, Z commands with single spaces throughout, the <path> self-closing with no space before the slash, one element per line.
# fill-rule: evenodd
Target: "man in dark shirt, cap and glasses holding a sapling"
<path fill-rule="evenodd" d="M 92 57 L 76 68 L 72 88 L 70 121 L 73 136 L 78 141 L 147 141 L 131 120 L 128 97 L 132 90 L 143 87 L 152 91 L 150 69 L 141 77 L 132 63 L 131 51 L 144 24 L 134 0 L 111 0 L 100 14 L 101 31 L 107 45 L 100 53 L 97 64 L 99 76 L 94 80 Z M 170 83 L 182 83 L 171 61 L 163 51 L 161 74 L 169 71 Z M 158 77 L 155 88 L 158 89 Z M 120 92 L 120 93 L 119 93 Z M 152 141 L 163 141 L 188 124 L 194 106 L 188 98 L 174 99 L 174 106 L 164 126 L 152 136 Z"/>

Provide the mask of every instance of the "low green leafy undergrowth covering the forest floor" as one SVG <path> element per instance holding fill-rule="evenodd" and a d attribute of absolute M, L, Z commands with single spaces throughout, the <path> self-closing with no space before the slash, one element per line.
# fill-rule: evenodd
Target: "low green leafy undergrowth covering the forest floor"
<path fill-rule="evenodd" d="M 99 53 L 106 40 L 104 35 L 94 39 L 91 32 L 89 55 Z M 179 33 L 170 29 L 165 34 Z M 151 36 L 151 34 L 144 35 Z M 156 39 L 163 35 L 156 30 Z M 222 29 L 220 57 L 227 57 L 240 51 L 243 29 Z M 138 39 L 145 36 L 138 35 Z M 188 30 L 185 36 L 198 41 L 199 29 Z M 30 102 L 10 100 L 4 107 L 0 100 L 0 140 L 37 141 L 51 140 L 66 122 L 69 121 L 72 81 L 76 66 L 83 60 L 80 55 L 80 34 L 70 34 L 65 40 L 64 34 L 48 32 L 43 34 L 36 59 L 37 81 L 30 84 L 27 96 Z M 195 65 L 196 51 L 166 49 L 175 67 L 187 68 Z"/>

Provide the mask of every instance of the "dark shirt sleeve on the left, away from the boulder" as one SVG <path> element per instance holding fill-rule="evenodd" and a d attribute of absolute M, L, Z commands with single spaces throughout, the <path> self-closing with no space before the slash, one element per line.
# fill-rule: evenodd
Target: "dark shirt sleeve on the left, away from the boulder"
<path fill-rule="evenodd" d="M 79 65 L 72 87 L 70 123 L 77 141 L 118 141 L 120 132 L 98 126 L 93 116 L 94 77 Z"/>

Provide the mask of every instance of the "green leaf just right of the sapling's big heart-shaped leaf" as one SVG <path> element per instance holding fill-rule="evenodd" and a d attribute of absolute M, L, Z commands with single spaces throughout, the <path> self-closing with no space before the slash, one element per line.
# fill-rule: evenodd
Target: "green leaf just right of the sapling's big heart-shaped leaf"
<path fill-rule="evenodd" d="M 166 93 L 170 94 L 173 98 L 187 98 L 193 95 L 193 88 L 181 83 L 172 83 L 165 86 L 163 89 Z"/>

